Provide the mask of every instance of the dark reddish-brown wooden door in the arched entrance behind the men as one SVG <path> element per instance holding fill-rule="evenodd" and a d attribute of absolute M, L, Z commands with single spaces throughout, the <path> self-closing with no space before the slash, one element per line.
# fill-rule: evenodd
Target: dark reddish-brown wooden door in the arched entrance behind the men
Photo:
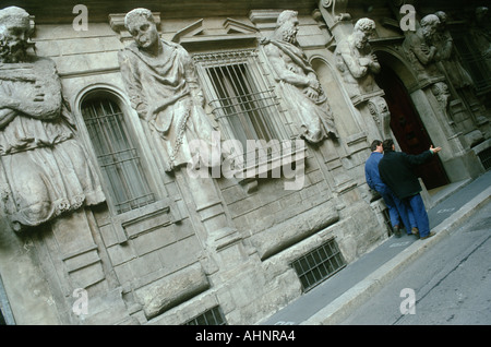
<path fill-rule="evenodd" d="M 431 139 L 397 74 L 388 67 L 382 65 L 376 82 L 385 92 L 384 98 L 391 111 L 391 129 L 400 149 L 407 154 L 420 154 L 428 151 L 432 144 Z M 438 146 L 439 144 L 433 145 Z M 450 182 L 438 155 L 417 167 L 415 174 L 421 177 L 427 189 Z"/>

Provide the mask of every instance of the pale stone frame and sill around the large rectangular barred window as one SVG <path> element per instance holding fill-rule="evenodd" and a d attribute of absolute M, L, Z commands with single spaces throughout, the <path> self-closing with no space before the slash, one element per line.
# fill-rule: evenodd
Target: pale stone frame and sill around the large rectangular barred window
<path fill-rule="evenodd" d="M 233 136 L 236 134 L 236 131 L 233 130 L 232 122 L 228 119 L 230 115 L 227 115 L 224 110 L 227 106 L 221 105 L 214 107 L 212 105 L 213 103 L 219 103 L 221 97 L 219 95 L 219 91 L 217 91 L 215 86 L 213 77 L 208 73 L 208 70 L 225 69 L 228 72 L 237 73 L 237 69 L 231 68 L 230 70 L 230 68 L 228 67 L 243 65 L 247 70 L 244 75 L 250 75 L 250 81 L 252 81 L 254 89 L 248 91 L 249 93 L 244 95 L 233 95 L 232 97 L 242 98 L 249 97 L 251 95 L 266 95 L 265 97 L 259 98 L 258 100 L 252 100 L 251 104 L 263 103 L 261 107 L 261 112 L 263 112 L 262 117 L 264 118 L 264 124 L 268 128 L 268 133 L 273 135 L 273 139 L 270 139 L 268 141 L 266 141 L 266 139 L 259 139 L 259 141 L 258 139 L 246 139 L 255 141 L 256 147 L 254 147 L 253 149 L 256 151 L 256 154 L 252 155 L 251 157 L 256 158 L 256 161 L 252 166 L 250 165 L 250 163 L 246 163 L 246 167 L 237 171 L 236 177 L 239 178 L 240 181 L 254 177 L 265 177 L 268 172 L 280 167 L 282 163 L 285 164 L 286 161 L 291 161 L 291 156 L 295 156 L 295 161 L 302 160 L 304 158 L 304 146 L 295 147 L 291 144 L 291 147 L 289 148 L 294 149 L 285 151 L 285 147 L 280 143 L 283 141 L 292 142 L 296 137 L 298 137 L 298 133 L 291 120 L 289 119 L 287 111 L 285 111 L 283 108 L 280 97 L 276 94 L 275 81 L 273 81 L 272 72 L 264 65 L 265 57 L 262 49 L 255 47 L 215 50 L 206 52 L 195 52 L 191 56 L 196 67 L 197 79 L 200 81 L 200 84 L 202 85 L 205 99 L 207 101 L 208 111 L 213 113 L 213 117 L 217 121 L 219 129 L 224 131 L 221 141 L 238 140 L 240 143 L 242 143 L 242 146 L 244 145 L 243 141 Z M 248 79 L 244 77 L 244 80 Z M 220 85 L 220 87 L 225 88 L 224 85 Z M 273 103 L 270 104 L 270 99 Z M 252 107 L 250 109 L 252 109 Z M 235 115 L 232 113 L 232 116 Z M 242 117 L 243 119 L 244 115 L 241 115 L 239 117 Z M 249 117 L 249 115 L 247 115 L 246 117 Z M 252 121 L 250 121 L 250 123 L 252 123 Z M 247 130 L 242 129 L 241 132 L 247 133 Z M 259 135 L 260 134 L 255 131 L 255 136 L 259 137 Z M 243 159 L 247 160 L 249 158 L 247 153 L 249 148 L 244 146 L 243 149 Z M 253 172 L 253 177 L 251 177 L 251 172 Z"/>

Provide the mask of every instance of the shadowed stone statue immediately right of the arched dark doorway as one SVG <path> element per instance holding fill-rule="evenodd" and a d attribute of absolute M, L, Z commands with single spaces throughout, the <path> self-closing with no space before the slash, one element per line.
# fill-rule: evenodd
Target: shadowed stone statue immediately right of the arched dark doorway
<path fill-rule="evenodd" d="M 443 80 L 443 75 L 435 63 L 438 49 L 434 46 L 434 36 L 440 20 L 434 14 L 428 14 L 421 20 L 420 24 L 421 27 L 415 33 L 408 33 L 403 47 L 412 68 L 418 73 L 420 82 L 431 84 Z"/>

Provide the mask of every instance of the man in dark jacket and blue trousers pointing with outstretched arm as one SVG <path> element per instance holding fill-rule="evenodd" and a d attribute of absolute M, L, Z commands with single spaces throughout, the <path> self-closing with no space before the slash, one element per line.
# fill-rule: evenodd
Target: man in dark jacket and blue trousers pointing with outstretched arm
<path fill-rule="evenodd" d="M 420 195 L 421 186 L 412 168 L 429 160 L 433 154 L 442 151 L 441 147 L 430 147 L 419 155 L 395 152 L 394 141 L 387 139 L 382 143 L 384 157 L 379 163 L 379 172 L 382 181 L 388 186 L 408 208 L 412 210 L 421 239 L 432 237 L 427 210 Z"/>

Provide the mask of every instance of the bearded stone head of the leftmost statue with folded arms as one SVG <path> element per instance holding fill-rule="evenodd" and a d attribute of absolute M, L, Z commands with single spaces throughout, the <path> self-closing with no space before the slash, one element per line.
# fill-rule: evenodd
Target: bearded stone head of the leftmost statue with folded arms
<path fill-rule="evenodd" d="M 0 61 L 21 62 L 27 57 L 29 14 L 17 7 L 0 10 Z"/>

